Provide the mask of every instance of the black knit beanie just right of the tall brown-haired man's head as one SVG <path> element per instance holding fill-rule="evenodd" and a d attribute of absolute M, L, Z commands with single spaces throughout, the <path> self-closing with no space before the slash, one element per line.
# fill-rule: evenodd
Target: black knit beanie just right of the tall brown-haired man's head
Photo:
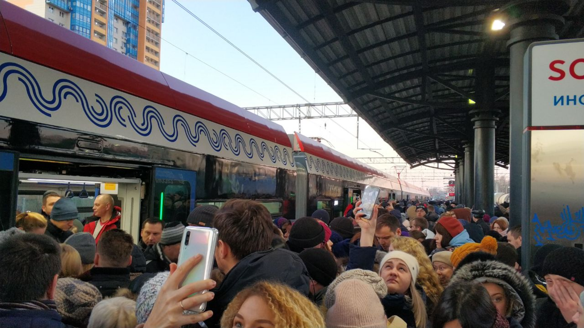
<path fill-rule="evenodd" d="M 311 217 L 297 219 L 290 229 L 288 246 L 290 250 L 300 253 L 307 248 L 318 246 L 325 241 L 325 228 Z"/>

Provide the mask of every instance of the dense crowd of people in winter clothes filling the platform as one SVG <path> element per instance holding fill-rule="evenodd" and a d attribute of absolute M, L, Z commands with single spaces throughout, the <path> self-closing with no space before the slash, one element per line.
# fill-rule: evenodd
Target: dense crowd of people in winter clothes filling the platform
<path fill-rule="evenodd" d="M 523 270 L 509 204 L 493 218 L 432 201 L 364 218 L 360 205 L 294 222 L 252 200 L 195 207 L 186 224 L 219 232 L 214 269 L 182 285 L 202 257 L 177 266 L 181 222 L 145 219 L 134 240 L 111 196 L 81 224 L 47 191 L 0 232 L 0 327 L 584 327 L 584 250 L 548 244 Z"/>

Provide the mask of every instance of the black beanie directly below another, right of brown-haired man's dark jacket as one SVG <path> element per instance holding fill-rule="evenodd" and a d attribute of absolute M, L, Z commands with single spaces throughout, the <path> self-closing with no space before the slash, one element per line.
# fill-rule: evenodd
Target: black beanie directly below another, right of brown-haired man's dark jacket
<path fill-rule="evenodd" d="M 324 287 L 336 278 L 337 267 L 331 252 L 322 248 L 305 249 L 298 254 L 310 277 Z"/>

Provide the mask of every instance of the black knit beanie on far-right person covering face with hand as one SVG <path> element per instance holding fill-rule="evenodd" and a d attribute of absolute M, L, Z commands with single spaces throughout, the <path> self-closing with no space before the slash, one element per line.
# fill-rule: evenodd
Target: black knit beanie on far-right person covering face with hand
<path fill-rule="evenodd" d="M 545 257 L 542 276 L 557 274 L 584 286 L 584 250 L 562 247 Z"/>

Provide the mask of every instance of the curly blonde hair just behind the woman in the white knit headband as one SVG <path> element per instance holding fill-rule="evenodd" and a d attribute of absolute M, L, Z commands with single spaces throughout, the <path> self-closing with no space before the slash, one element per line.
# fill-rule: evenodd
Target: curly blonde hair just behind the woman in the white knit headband
<path fill-rule="evenodd" d="M 428 299 L 436 305 L 440 299 L 440 295 L 444 291 L 444 287 L 440 285 L 440 279 L 432 267 L 432 262 L 426 254 L 424 246 L 418 240 L 411 237 L 396 237 L 391 242 L 391 246 L 395 250 L 413 255 L 420 264 L 420 272 L 418 274 L 418 284 L 422 286 Z"/>

